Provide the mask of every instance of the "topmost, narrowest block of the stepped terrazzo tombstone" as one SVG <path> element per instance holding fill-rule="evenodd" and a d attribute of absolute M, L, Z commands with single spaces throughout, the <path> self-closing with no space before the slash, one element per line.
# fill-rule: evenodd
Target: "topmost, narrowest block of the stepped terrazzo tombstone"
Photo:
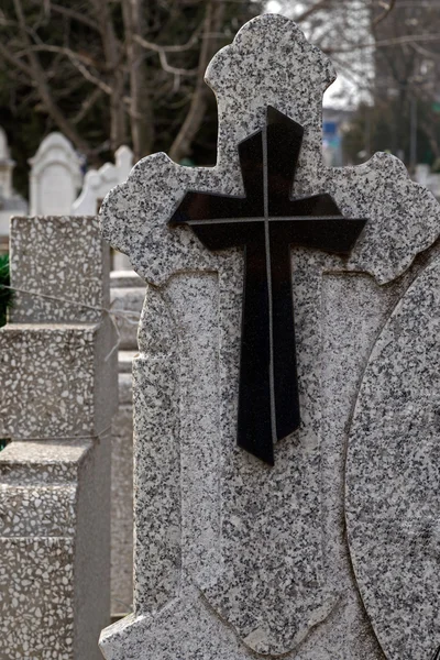
<path fill-rule="evenodd" d="M 101 308 L 109 306 L 110 255 L 98 226 L 95 216 L 12 218 L 11 286 L 21 290 L 15 294 L 11 322 L 100 320 Z"/>

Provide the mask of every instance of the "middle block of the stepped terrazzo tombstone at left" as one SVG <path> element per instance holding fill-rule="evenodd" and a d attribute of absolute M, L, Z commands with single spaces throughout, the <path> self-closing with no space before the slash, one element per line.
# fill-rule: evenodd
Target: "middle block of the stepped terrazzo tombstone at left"
<path fill-rule="evenodd" d="M 99 436 L 117 408 L 117 351 L 101 324 L 8 324 L 0 330 L 0 435 Z"/>

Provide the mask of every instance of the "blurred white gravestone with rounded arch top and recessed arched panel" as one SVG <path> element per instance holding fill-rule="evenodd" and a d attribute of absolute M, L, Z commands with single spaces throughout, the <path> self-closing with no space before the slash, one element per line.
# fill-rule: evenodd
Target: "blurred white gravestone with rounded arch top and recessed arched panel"
<path fill-rule="evenodd" d="M 80 161 L 70 142 L 61 133 L 50 133 L 29 162 L 31 216 L 70 215 L 82 182 Z"/>

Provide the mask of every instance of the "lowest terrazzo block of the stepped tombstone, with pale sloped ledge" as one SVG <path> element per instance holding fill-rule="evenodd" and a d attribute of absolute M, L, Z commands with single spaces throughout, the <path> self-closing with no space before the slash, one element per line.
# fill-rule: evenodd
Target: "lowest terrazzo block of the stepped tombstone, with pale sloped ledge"
<path fill-rule="evenodd" d="M 0 453 L 0 658 L 99 659 L 109 458 L 109 435 L 99 444 L 12 442 Z"/>

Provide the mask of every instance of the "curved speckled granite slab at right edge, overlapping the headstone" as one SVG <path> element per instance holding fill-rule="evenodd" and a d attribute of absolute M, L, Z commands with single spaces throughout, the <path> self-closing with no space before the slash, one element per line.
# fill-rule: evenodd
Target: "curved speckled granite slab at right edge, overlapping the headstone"
<path fill-rule="evenodd" d="M 386 657 L 399 660 L 431 658 L 436 639 L 440 646 L 439 283 L 437 258 L 393 310 L 349 439 L 354 574 Z"/>

